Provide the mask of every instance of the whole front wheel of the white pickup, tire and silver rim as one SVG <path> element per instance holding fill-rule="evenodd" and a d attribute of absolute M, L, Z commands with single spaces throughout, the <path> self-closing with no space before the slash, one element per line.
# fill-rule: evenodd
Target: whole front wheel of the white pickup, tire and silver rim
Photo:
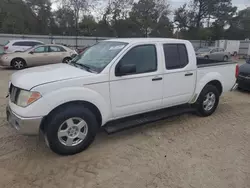
<path fill-rule="evenodd" d="M 82 105 L 68 105 L 49 117 L 45 141 L 59 155 L 73 155 L 94 141 L 98 128 L 95 115 Z"/>

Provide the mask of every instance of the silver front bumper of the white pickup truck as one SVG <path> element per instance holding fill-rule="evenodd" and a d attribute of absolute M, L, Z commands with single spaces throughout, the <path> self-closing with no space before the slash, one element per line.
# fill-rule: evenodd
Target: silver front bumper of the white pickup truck
<path fill-rule="evenodd" d="M 43 117 L 24 118 L 15 114 L 9 106 L 6 108 L 7 121 L 23 135 L 39 135 Z"/>

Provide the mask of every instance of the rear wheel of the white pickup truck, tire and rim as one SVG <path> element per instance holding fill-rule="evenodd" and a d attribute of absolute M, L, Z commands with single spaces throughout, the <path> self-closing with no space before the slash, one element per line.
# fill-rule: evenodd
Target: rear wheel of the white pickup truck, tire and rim
<path fill-rule="evenodd" d="M 205 86 L 195 104 L 197 114 L 203 117 L 212 115 L 217 109 L 219 99 L 220 94 L 215 86 Z"/>

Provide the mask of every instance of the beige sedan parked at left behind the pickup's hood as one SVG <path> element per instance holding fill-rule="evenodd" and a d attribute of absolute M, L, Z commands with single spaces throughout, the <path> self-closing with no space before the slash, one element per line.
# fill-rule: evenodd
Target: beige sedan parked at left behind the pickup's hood
<path fill-rule="evenodd" d="M 76 51 L 61 45 L 39 45 L 24 52 L 5 54 L 0 57 L 0 65 L 23 69 L 29 66 L 68 63 L 75 57 Z"/>

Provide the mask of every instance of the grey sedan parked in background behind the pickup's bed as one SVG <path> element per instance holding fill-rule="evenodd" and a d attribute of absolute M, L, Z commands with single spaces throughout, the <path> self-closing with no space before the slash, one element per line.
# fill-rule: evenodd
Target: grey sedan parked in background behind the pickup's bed
<path fill-rule="evenodd" d="M 196 51 L 197 57 L 204 57 L 217 61 L 228 61 L 230 54 L 225 52 L 222 48 L 200 48 Z"/>

